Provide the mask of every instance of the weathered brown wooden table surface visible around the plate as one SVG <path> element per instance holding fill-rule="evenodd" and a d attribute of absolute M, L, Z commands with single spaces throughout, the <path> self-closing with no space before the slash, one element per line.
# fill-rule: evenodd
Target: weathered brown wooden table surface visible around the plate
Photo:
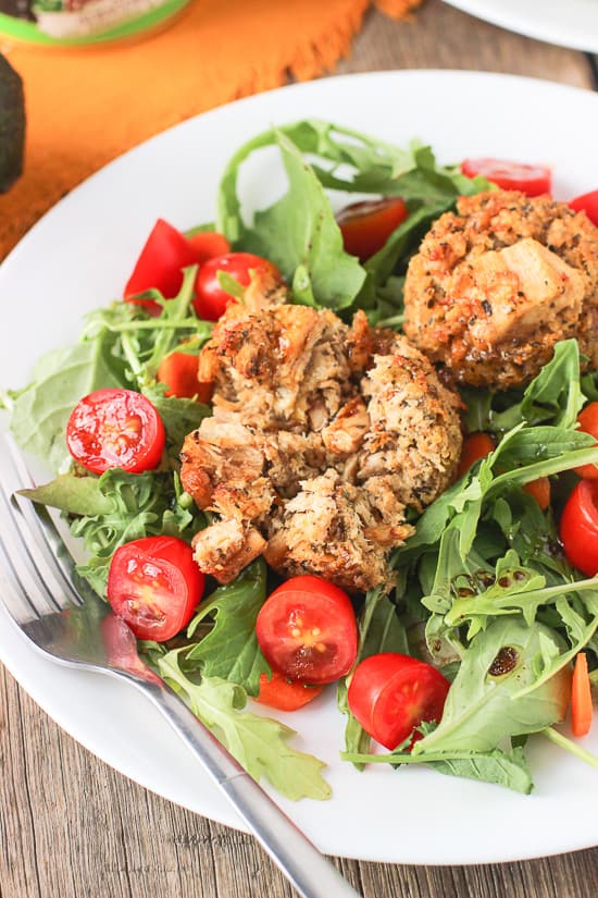
<path fill-rule="evenodd" d="M 337 71 L 431 67 L 598 87 L 596 58 L 486 25 L 439 0 L 428 0 L 409 23 L 369 13 Z M 0 765 L 0 898 L 295 895 L 250 836 L 184 811 L 115 773 L 62 733 L 3 668 Z M 335 863 L 364 898 L 598 895 L 598 848 L 465 868 Z"/>

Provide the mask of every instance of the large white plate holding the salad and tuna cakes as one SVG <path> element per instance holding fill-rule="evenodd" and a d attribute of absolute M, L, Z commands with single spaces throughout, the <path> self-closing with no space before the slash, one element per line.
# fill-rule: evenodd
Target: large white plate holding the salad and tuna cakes
<path fill-rule="evenodd" d="M 509 126 L 496 110 L 509 110 Z M 52 209 L 0 268 L 0 383 L 20 385 L 40 350 L 79 333 L 85 310 L 117 296 L 151 225 L 211 220 L 224 162 L 271 123 L 320 116 L 389 140 L 429 142 L 445 162 L 497 155 L 548 162 L 556 193 L 598 186 L 598 96 L 549 83 L 468 72 L 349 75 L 286 87 L 216 109 L 142 144 Z M 559 126 L 555 127 L 555 121 Z M 574 135 L 574 138 L 572 138 Z M 132 689 L 52 666 L 2 616 L 0 657 L 30 696 L 116 770 L 200 814 L 235 813 L 158 712 Z M 320 703 L 319 703 L 320 702 Z M 427 770 L 358 773 L 338 760 L 334 696 L 287 722 L 296 745 L 329 764 L 331 801 L 282 801 L 329 853 L 406 863 L 477 863 L 598 844 L 598 773 L 536 739 L 530 797 Z M 29 734 L 35 738 L 35 734 Z M 598 750 L 598 731 L 586 739 Z"/>

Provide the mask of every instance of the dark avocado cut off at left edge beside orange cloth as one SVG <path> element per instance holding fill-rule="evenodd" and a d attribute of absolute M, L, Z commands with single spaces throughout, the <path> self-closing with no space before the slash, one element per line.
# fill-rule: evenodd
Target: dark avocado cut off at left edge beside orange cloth
<path fill-rule="evenodd" d="M 23 171 L 24 144 L 23 82 L 0 54 L 0 193 L 8 190 Z"/>

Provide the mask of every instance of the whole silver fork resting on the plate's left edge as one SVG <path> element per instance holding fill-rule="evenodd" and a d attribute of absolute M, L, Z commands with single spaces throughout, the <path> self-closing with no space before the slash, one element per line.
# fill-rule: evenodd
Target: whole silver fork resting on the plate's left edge
<path fill-rule="evenodd" d="M 336 868 L 237 763 L 175 692 L 127 651 L 108 656 L 107 626 L 128 627 L 77 577 L 46 508 L 16 494 L 32 485 L 10 438 L 0 452 L 0 601 L 30 640 L 60 664 L 117 677 L 140 690 L 201 762 L 259 844 L 303 898 L 359 898 Z"/>

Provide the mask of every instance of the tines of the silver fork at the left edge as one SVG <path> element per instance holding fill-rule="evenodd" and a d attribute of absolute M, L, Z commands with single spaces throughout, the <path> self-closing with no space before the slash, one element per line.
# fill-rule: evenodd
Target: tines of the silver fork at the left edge
<path fill-rule="evenodd" d="M 13 488 L 18 482 L 18 475 L 14 458 L 9 458 L 5 452 L 3 455 L 5 457 L 0 468 L 0 542 L 13 598 L 12 607 L 14 612 L 15 596 L 23 593 L 29 613 L 43 616 L 61 611 L 70 604 L 65 599 L 76 599 L 76 592 L 65 580 L 63 571 L 57 567 L 55 556 L 46 541 L 33 506 L 26 508 L 24 502 L 23 506 L 16 503 Z M 24 614 L 25 608 L 22 607 L 18 617 L 22 618 Z"/>

